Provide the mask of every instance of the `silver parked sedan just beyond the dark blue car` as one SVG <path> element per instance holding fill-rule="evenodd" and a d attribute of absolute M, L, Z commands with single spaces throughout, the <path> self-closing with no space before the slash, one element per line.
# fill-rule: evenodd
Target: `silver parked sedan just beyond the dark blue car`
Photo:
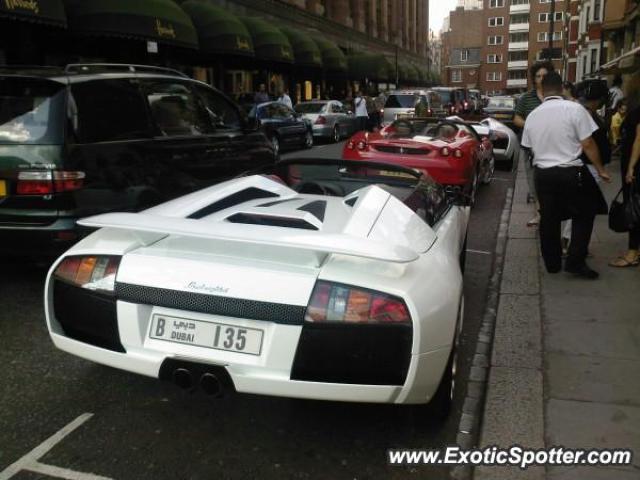
<path fill-rule="evenodd" d="M 353 112 L 337 100 L 300 102 L 295 106 L 295 111 L 311 122 L 314 137 L 339 142 L 357 129 Z"/>

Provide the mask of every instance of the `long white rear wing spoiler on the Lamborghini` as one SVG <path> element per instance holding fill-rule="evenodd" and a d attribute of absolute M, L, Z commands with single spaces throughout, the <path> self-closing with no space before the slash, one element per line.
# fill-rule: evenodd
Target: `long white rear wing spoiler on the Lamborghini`
<path fill-rule="evenodd" d="M 394 263 L 408 263 L 418 253 L 402 245 L 382 243 L 344 233 L 309 232 L 291 228 L 270 228 L 262 225 L 208 222 L 190 218 L 175 218 L 145 213 L 106 213 L 82 219 L 78 224 L 94 228 L 114 228 L 140 233 L 177 235 L 222 242 L 292 248 L 316 253 L 336 253 Z M 153 241 L 158 240 L 157 237 Z"/>

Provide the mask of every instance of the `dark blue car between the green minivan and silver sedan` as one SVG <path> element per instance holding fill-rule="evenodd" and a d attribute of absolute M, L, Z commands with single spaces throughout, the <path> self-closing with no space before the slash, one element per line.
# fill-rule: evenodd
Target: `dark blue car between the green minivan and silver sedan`
<path fill-rule="evenodd" d="M 254 105 L 249 119 L 260 126 L 275 152 L 285 148 L 313 147 L 313 130 L 309 120 L 302 114 L 280 102 L 265 102 Z"/>

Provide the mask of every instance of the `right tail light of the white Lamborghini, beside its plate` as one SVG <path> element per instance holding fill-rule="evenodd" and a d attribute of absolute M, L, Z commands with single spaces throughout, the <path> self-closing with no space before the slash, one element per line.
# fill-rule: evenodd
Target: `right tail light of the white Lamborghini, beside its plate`
<path fill-rule="evenodd" d="M 316 283 L 305 313 L 306 322 L 410 324 L 401 298 L 333 282 Z"/>

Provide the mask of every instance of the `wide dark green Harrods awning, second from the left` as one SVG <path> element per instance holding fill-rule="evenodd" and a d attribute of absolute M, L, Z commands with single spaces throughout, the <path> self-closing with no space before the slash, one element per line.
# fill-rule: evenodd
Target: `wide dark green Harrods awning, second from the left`
<path fill-rule="evenodd" d="M 198 48 L 191 18 L 172 0 L 65 0 L 74 32 Z"/>

